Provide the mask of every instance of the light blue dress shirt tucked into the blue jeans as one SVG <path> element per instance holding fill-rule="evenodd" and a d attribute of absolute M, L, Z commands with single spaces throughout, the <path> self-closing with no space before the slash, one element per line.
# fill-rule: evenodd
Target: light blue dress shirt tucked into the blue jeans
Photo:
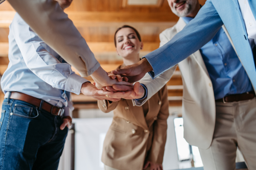
<path fill-rule="evenodd" d="M 75 74 L 17 13 L 9 30 L 9 65 L 1 79 L 4 94 L 21 92 L 64 108 L 64 116 L 71 116 L 68 93 L 80 94 L 88 81 Z"/>

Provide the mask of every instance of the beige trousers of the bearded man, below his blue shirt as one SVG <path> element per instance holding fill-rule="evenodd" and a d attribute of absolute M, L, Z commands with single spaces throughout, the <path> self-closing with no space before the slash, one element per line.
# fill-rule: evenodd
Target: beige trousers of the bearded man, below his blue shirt
<path fill-rule="evenodd" d="M 199 149 L 204 170 L 235 170 L 237 147 L 249 170 L 256 170 L 256 98 L 216 102 L 216 123 L 212 144 Z"/>

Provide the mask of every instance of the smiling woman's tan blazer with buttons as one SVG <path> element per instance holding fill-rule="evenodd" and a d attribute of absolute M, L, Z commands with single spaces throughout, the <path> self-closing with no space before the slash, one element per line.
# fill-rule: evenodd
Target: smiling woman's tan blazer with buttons
<path fill-rule="evenodd" d="M 98 100 L 101 111 L 114 110 L 113 122 L 103 145 L 102 162 L 105 165 L 118 170 L 143 170 L 145 159 L 162 164 L 169 116 L 167 96 L 165 85 L 147 101 L 146 109 L 133 106 L 128 99 L 112 103 Z"/>

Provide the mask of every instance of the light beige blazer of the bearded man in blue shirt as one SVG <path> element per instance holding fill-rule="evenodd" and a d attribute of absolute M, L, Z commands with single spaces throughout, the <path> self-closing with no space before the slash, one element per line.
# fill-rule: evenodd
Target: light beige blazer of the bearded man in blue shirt
<path fill-rule="evenodd" d="M 169 42 L 186 26 L 186 23 L 180 18 L 175 26 L 164 30 L 160 34 L 160 47 Z M 231 38 L 223 26 L 231 44 Z M 233 46 L 234 47 L 234 46 Z M 184 138 L 186 141 L 194 146 L 202 149 L 207 149 L 212 143 L 212 136 L 215 127 L 215 97 L 212 88 L 212 82 L 209 77 L 207 68 L 200 51 L 196 51 L 182 62 L 178 64 L 183 81 L 183 100 L 182 100 L 182 116 L 184 126 Z M 170 68 L 168 72 L 164 72 L 166 77 L 172 76 L 177 65 Z M 148 82 L 141 79 L 140 83 Z M 158 81 L 165 84 L 166 80 L 161 79 Z M 154 94 L 159 88 L 155 86 L 150 88 L 150 94 Z M 143 102 L 145 102 L 144 100 Z M 142 103 L 134 103 L 136 105 L 143 105 Z"/>

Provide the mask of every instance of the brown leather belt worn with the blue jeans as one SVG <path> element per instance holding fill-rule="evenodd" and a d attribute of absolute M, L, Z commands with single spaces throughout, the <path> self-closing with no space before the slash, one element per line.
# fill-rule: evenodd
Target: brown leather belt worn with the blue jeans
<path fill-rule="evenodd" d="M 12 91 L 10 93 L 12 93 L 10 96 L 10 99 L 22 100 L 29 104 L 35 105 L 38 108 L 40 108 L 40 105 L 42 102 L 41 108 L 49 113 L 52 113 L 55 116 L 62 116 L 64 113 L 64 109 L 58 108 L 57 106 L 53 106 L 47 102 L 44 102 L 44 100 L 29 96 L 27 94 L 16 92 L 16 91 Z"/>

